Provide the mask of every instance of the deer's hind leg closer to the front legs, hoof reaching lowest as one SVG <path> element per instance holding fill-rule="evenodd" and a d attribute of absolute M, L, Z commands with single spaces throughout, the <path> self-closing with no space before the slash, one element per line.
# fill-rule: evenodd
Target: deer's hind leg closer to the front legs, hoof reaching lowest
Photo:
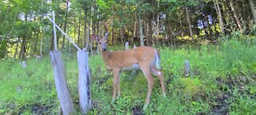
<path fill-rule="evenodd" d="M 148 84 L 146 102 L 145 102 L 145 105 L 143 107 L 143 109 L 146 109 L 147 106 L 150 104 L 150 95 L 152 93 L 152 89 L 153 89 L 153 85 L 154 85 L 154 79 L 151 76 L 150 69 L 148 68 L 148 66 L 146 66 L 145 68 L 142 68 L 142 71 L 143 71 L 143 73 L 146 77 L 146 81 L 147 81 L 147 84 Z"/>

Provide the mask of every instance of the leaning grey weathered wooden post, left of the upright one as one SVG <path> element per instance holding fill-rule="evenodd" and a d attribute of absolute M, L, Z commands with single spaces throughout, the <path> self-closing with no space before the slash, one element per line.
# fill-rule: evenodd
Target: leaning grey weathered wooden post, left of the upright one
<path fill-rule="evenodd" d="M 64 115 L 75 114 L 73 101 L 66 83 L 66 73 L 61 52 L 50 51 L 50 61 L 54 69 L 54 81 L 62 113 Z"/>

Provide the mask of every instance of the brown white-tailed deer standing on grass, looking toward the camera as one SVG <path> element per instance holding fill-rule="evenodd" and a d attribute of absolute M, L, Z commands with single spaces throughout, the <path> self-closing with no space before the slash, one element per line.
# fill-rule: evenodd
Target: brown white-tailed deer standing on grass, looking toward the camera
<path fill-rule="evenodd" d="M 117 86 L 118 97 L 120 96 L 120 71 L 131 69 L 142 69 L 148 83 L 146 102 L 143 109 L 146 109 L 147 105 L 150 103 L 150 95 L 154 85 L 154 78 L 151 76 L 151 73 L 159 78 L 162 94 L 165 97 L 164 77 L 159 70 L 161 67 L 159 65 L 160 56 L 158 50 L 150 46 L 140 46 L 130 50 L 106 51 L 107 36 L 108 33 L 106 33 L 103 38 L 100 38 L 98 35 L 92 35 L 92 38 L 100 45 L 102 58 L 106 64 L 106 68 L 112 69 L 114 73 L 112 101 L 115 100 Z"/>

